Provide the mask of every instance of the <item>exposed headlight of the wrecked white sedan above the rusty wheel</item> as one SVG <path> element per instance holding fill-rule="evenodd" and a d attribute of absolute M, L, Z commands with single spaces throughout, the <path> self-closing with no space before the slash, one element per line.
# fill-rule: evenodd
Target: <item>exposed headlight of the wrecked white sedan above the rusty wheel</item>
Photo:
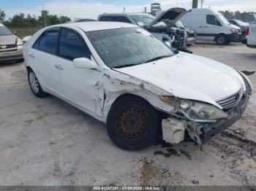
<path fill-rule="evenodd" d="M 159 96 L 166 104 L 173 106 L 177 112 L 183 113 L 191 120 L 218 120 L 227 118 L 227 114 L 216 106 L 189 101 L 170 96 Z"/>

